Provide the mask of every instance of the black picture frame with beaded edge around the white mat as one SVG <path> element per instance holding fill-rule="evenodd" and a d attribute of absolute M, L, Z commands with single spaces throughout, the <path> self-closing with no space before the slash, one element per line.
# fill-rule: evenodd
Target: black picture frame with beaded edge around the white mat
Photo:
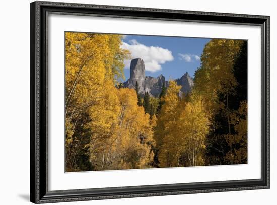
<path fill-rule="evenodd" d="M 34 203 L 269 188 L 269 16 L 57 2 L 30 4 L 30 200 Z M 261 27 L 261 178 L 116 188 L 48 190 L 48 14 L 188 21 Z M 250 70 L 251 72 L 251 70 Z"/>

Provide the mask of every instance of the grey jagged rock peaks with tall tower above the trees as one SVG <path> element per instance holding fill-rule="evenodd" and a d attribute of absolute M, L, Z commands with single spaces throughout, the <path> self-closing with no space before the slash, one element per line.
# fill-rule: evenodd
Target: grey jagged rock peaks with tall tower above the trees
<path fill-rule="evenodd" d="M 186 72 L 181 78 L 175 80 L 177 85 L 181 85 L 181 92 L 188 93 L 193 87 L 193 79 Z M 123 83 L 124 87 L 135 89 L 135 84 L 138 84 L 139 92 L 144 95 L 145 92 L 149 92 L 151 96 L 158 97 L 162 91 L 162 86 L 165 84 L 169 86 L 168 81 L 165 80 L 163 75 L 157 78 L 151 76 L 145 76 L 145 65 L 141 58 L 131 60 L 130 65 L 130 78 Z"/>

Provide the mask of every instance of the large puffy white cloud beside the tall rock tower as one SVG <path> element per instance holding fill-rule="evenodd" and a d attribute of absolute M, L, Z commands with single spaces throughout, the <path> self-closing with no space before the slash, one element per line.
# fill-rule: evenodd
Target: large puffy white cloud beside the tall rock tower
<path fill-rule="evenodd" d="M 145 63 L 145 70 L 156 72 L 162 70 L 162 64 L 174 59 L 172 52 L 168 49 L 157 46 L 146 46 L 137 42 L 135 39 L 129 40 L 129 43 L 122 42 L 121 48 L 131 52 L 132 58 L 142 58 Z M 130 67 L 131 60 L 125 60 L 125 67 Z"/>

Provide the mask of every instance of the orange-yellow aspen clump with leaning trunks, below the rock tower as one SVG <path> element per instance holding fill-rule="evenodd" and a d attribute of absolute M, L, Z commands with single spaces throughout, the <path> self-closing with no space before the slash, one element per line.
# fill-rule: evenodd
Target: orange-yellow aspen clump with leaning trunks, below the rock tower
<path fill-rule="evenodd" d="M 100 144 L 94 146 L 98 150 L 91 151 L 92 163 L 98 165 L 96 170 L 146 168 L 152 160 L 149 142 L 153 136 L 149 114 L 137 105 L 135 90 L 122 88 L 115 93 L 119 100 L 118 109 L 114 110 L 115 122 L 109 129 L 109 138 L 105 142 L 99 141 Z"/>

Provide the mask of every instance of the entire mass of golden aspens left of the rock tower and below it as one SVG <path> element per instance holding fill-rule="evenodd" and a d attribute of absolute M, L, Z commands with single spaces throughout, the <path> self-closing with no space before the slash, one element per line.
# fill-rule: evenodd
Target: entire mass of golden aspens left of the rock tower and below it
<path fill-rule="evenodd" d="M 145 168 L 152 123 L 133 89 L 117 89 L 121 36 L 66 33 L 66 171 Z"/>

